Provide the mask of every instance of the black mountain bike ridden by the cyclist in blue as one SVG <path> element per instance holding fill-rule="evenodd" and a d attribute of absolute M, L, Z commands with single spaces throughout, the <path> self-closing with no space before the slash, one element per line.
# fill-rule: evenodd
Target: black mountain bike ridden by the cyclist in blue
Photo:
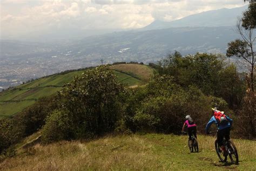
<path fill-rule="evenodd" d="M 215 132 L 218 132 L 218 131 L 212 131 L 210 133 L 215 133 Z M 239 160 L 238 160 L 237 148 L 235 147 L 233 141 L 226 140 L 225 138 L 223 138 L 223 144 L 227 151 L 226 156 L 223 155 L 223 152 L 221 151 L 220 146 L 218 145 L 217 139 L 215 140 L 215 150 L 216 150 L 216 153 L 217 153 L 220 161 L 227 162 L 227 156 L 230 156 L 231 162 L 238 165 Z"/>

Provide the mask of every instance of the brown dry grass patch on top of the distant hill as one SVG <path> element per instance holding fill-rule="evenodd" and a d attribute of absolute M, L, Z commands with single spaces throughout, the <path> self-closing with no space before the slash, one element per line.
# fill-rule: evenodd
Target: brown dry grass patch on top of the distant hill
<path fill-rule="evenodd" d="M 135 63 L 113 65 L 111 69 L 118 70 L 127 74 L 134 74 L 143 81 L 148 81 L 153 75 L 153 69 L 146 65 L 140 65 Z"/>

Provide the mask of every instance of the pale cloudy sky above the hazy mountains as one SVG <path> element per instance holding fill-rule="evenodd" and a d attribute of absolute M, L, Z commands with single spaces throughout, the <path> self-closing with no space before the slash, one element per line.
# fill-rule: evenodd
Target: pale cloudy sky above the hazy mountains
<path fill-rule="evenodd" d="M 129 30 L 243 5 L 243 0 L 0 0 L 0 39 Z"/>

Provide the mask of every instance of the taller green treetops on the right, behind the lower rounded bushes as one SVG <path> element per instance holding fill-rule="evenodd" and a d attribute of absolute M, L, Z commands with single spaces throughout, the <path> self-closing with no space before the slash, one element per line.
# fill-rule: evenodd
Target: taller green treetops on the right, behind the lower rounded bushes
<path fill-rule="evenodd" d="M 173 76 L 182 87 L 193 85 L 205 95 L 224 98 L 231 107 L 240 104 L 243 83 L 234 65 L 226 65 L 222 56 L 199 54 L 181 56 L 168 55 L 159 61 L 159 73 Z M 239 91 L 239 92 L 238 92 Z"/>

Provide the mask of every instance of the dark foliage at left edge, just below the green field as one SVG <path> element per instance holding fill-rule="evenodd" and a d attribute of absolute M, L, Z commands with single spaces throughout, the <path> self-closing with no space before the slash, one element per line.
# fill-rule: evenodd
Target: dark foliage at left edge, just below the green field
<path fill-rule="evenodd" d="M 0 153 L 41 129 L 45 124 L 45 118 L 56 108 L 54 96 L 43 97 L 16 116 L 0 120 Z"/>

